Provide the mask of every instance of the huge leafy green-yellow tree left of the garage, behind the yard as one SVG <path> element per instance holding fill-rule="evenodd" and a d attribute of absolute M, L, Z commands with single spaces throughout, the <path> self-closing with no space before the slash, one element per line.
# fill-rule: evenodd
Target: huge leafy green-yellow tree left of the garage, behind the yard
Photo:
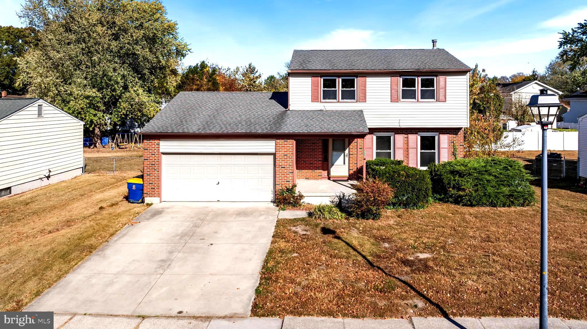
<path fill-rule="evenodd" d="M 21 84 L 85 122 L 94 145 L 127 119 L 142 124 L 176 92 L 189 52 L 157 0 L 26 0 L 39 44 L 19 59 Z"/>

